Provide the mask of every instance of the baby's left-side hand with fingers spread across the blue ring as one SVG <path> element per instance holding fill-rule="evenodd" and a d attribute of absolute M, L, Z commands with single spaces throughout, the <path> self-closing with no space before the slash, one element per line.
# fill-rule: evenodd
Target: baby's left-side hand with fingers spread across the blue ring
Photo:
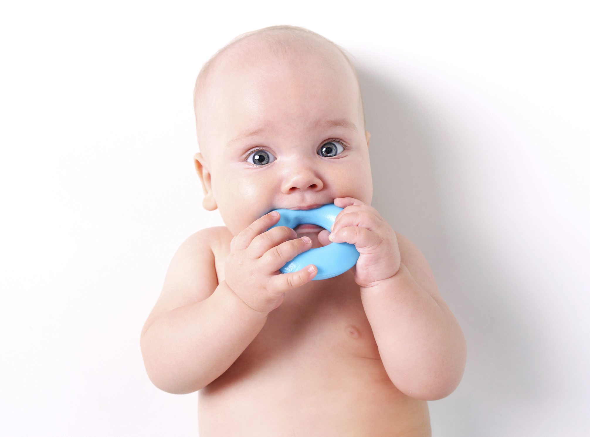
<path fill-rule="evenodd" d="M 312 247 L 312 240 L 297 238 L 293 229 L 278 226 L 278 212 L 262 216 L 231 241 L 225 261 L 225 282 L 250 308 L 268 313 L 283 302 L 284 293 L 312 280 L 317 273 L 313 264 L 300 271 L 278 271 L 296 255 Z M 266 232 L 265 232 L 266 231 Z"/>

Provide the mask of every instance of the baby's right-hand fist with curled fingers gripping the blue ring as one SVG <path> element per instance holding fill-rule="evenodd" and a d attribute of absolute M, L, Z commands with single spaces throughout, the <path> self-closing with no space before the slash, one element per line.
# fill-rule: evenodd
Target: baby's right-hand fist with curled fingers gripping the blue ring
<path fill-rule="evenodd" d="M 353 198 L 334 199 L 344 208 L 336 216 L 330 241 L 354 244 L 360 257 L 355 281 L 360 287 L 372 287 L 391 278 L 399 270 L 399 248 L 395 231 L 375 208 Z"/>

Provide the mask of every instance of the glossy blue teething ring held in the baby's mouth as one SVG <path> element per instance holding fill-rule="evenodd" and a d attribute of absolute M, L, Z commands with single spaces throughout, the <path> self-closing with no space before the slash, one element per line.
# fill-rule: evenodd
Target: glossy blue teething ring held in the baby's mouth
<path fill-rule="evenodd" d="M 342 208 L 338 208 L 332 203 L 331 205 L 305 211 L 301 209 L 275 209 L 274 211 L 280 213 L 281 219 L 273 228 L 287 226 L 287 228 L 293 229 L 297 225 L 311 224 L 330 230 Z M 355 265 L 358 259 L 359 252 L 356 250 L 355 245 L 332 243 L 324 247 L 309 249 L 297 255 L 283 265 L 280 271 L 281 273 L 296 272 L 306 267 L 306 265 L 314 264 L 317 267 L 317 275 L 313 280 L 316 281 L 343 274 Z"/>

